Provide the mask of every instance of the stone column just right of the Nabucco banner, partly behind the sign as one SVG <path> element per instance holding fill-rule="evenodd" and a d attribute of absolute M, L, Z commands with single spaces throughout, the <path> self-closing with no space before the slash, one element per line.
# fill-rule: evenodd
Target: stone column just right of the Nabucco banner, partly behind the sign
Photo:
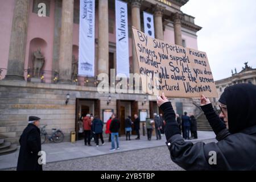
<path fill-rule="evenodd" d="M 141 3 L 143 0 L 132 0 L 131 2 L 131 24 L 138 30 L 141 30 Z M 137 53 L 133 41 L 133 73 L 139 73 Z"/>

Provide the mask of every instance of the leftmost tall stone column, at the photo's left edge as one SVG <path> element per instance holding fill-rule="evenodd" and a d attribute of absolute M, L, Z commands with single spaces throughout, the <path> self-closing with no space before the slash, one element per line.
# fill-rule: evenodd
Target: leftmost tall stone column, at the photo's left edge
<path fill-rule="evenodd" d="M 24 80 L 30 0 L 15 0 L 6 79 Z"/>

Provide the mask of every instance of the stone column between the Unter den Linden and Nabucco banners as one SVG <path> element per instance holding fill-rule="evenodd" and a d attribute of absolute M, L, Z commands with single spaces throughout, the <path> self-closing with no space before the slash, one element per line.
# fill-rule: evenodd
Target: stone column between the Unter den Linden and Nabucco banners
<path fill-rule="evenodd" d="M 108 1 L 98 1 L 98 74 L 109 74 L 109 10 Z"/>

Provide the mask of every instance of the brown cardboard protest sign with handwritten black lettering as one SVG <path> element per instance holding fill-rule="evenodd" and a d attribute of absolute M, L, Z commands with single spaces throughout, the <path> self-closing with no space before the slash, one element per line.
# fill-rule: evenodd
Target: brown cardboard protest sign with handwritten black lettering
<path fill-rule="evenodd" d="M 168 97 L 218 97 L 205 52 L 152 39 L 133 27 L 144 93 Z"/>

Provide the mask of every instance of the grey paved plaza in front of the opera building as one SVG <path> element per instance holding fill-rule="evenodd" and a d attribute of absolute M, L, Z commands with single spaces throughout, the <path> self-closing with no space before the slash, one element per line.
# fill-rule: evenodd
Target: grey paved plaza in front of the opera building
<path fill-rule="evenodd" d="M 212 131 L 198 131 L 199 139 L 205 142 L 215 141 Z M 146 136 L 141 140 L 125 140 L 119 138 L 120 150 L 109 151 L 111 143 L 105 139 L 105 145 L 96 147 L 84 146 L 82 140 L 76 143 L 46 143 L 42 150 L 46 151 L 47 164 L 44 170 L 180 170 L 170 159 L 166 138 L 151 141 Z M 101 143 L 100 143 L 101 144 Z M 0 169 L 14 170 L 17 164 L 19 150 L 13 154 L 0 156 Z M 171 165 L 170 165 L 171 164 Z"/>

